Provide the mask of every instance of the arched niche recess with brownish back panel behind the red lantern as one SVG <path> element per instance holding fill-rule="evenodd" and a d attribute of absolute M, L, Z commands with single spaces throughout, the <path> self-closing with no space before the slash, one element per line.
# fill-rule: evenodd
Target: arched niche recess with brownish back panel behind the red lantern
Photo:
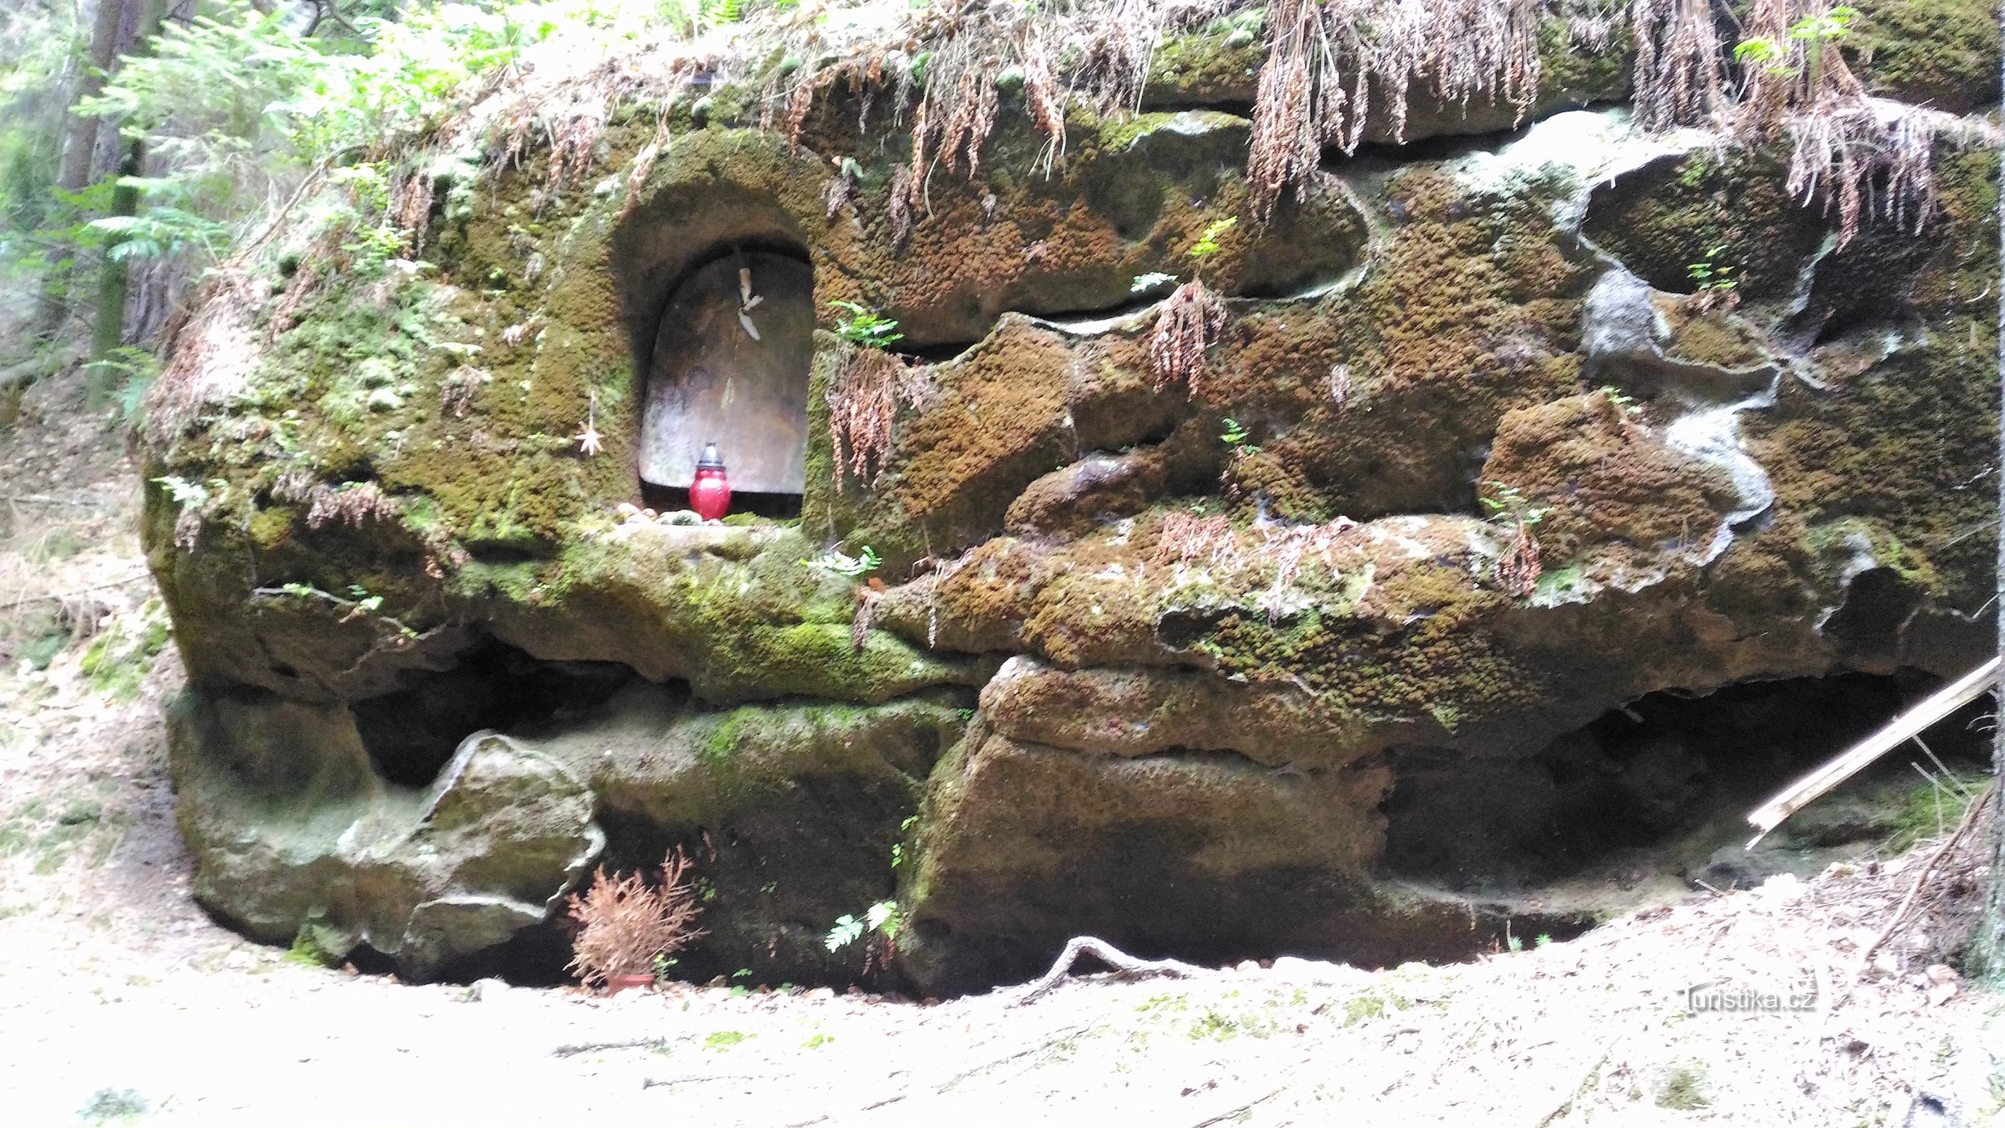
<path fill-rule="evenodd" d="M 734 509 L 798 505 L 806 483 L 814 268 L 768 250 L 690 270 L 670 293 L 650 355 L 640 477 L 688 489 L 716 443 Z M 760 501 L 766 499 L 766 505 Z"/>

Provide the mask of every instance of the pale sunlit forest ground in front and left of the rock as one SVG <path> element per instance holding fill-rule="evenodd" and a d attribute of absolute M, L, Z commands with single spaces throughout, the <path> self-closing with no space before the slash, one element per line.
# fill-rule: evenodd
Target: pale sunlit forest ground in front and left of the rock
<path fill-rule="evenodd" d="M 1947 1126 L 2005 1108 L 2005 1000 L 1945 966 L 1983 825 L 1875 960 L 1935 841 L 1470 964 L 1083 976 L 1029 1004 L 606 1000 L 291 962 L 188 898 L 160 721 L 180 675 L 136 471 L 76 395 L 50 381 L 0 433 L 4 1124 Z M 1694 1010 L 1694 984 L 1756 1006 Z"/>

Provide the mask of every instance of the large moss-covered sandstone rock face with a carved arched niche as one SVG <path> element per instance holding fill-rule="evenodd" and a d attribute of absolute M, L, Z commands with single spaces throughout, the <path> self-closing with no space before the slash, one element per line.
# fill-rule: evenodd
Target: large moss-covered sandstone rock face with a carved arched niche
<path fill-rule="evenodd" d="M 1566 110 L 1626 48 L 1562 36 L 1528 128 L 1331 152 L 1261 224 L 1243 30 L 1165 44 L 1049 178 L 1021 94 L 910 210 L 904 134 L 840 90 L 796 140 L 720 88 L 646 156 L 654 114 L 616 118 L 604 180 L 441 180 L 437 272 L 275 274 L 146 441 L 203 483 L 146 499 L 203 904 L 411 976 L 551 972 L 589 866 L 680 845 L 706 978 L 968 990 L 1085 932 L 1456 956 L 1504 924 L 1458 886 L 1488 858 L 1604 791 L 1674 821 L 1702 757 L 1596 717 L 1983 653 L 1995 154 L 1837 248 L 1774 152 Z M 1516 116 L 1420 98 L 1406 140 Z M 650 373 L 728 355 L 732 319 L 664 317 L 734 254 L 812 274 L 798 517 L 674 525 Z M 1163 381 L 1149 274 L 1195 270 L 1227 321 Z M 860 365 L 834 301 L 902 361 Z M 838 449 L 870 413 L 882 449 Z M 828 948 L 880 902 L 894 944 Z"/>

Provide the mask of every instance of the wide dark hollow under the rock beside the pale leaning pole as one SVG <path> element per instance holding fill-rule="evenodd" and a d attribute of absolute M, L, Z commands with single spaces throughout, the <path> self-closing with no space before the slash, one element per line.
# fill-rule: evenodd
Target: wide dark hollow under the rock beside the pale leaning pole
<path fill-rule="evenodd" d="M 1981 699 L 1923 741 L 1885 755 L 1833 795 L 1742 850 L 1746 811 L 1865 739 L 1937 687 L 1921 671 L 1748 681 L 1714 693 L 1650 693 L 1524 759 L 1442 749 L 1393 755 L 1383 803 L 1389 876 L 1458 894 L 1512 896 L 1578 882 L 1620 890 L 1648 874 L 1686 888 L 1752 886 L 1821 870 L 1833 848 L 1891 837 L 1901 803 L 1941 775 L 1987 769 Z"/>

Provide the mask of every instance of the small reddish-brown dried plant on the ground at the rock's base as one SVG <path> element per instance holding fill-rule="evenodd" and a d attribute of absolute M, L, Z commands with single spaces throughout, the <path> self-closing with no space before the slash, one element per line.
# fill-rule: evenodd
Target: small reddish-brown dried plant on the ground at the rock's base
<path fill-rule="evenodd" d="M 680 845 L 662 860 L 660 886 L 648 886 L 642 874 L 608 878 L 599 866 L 585 896 L 569 898 L 571 920 L 581 928 L 565 968 L 587 986 L 650 974 L 656 956 L 674 956 L 704 936 L 692 928 L 700 912 L 690 858 Z"/>

